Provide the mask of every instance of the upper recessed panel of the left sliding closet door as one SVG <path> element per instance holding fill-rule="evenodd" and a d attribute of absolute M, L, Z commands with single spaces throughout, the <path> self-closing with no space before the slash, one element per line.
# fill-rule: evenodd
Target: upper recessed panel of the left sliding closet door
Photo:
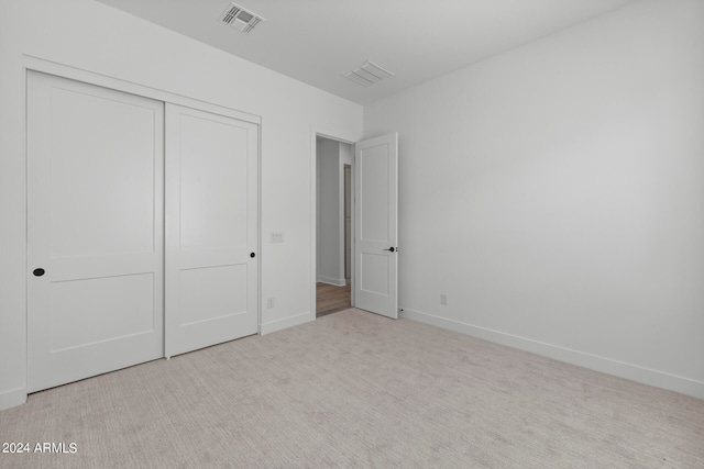
<path fill-rule="evenodd" d="M 157 116 L 123 97 L 51 91 L 53 257 L 154 252 Z"/>

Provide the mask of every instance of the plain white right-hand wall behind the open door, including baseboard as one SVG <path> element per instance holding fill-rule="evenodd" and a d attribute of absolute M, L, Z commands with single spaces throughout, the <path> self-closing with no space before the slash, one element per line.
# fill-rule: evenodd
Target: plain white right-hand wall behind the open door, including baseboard
<path fill-rule="evenodd" d="M 704 398 L 702 0 L 365 107 L 393 131 L 406 317 Z"/>

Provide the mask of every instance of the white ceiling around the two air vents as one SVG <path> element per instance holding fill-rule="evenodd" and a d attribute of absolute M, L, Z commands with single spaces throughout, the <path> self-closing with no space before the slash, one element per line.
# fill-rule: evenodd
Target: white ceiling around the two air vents
<path fill-rule="evenodd" d="M 235 0 L 266 19 L 250 34 L 218 22 L 229 0 L 97 0 L 365 104 L 634 0 Z M 395 72 L 344 78 L 370 59 Z"/>

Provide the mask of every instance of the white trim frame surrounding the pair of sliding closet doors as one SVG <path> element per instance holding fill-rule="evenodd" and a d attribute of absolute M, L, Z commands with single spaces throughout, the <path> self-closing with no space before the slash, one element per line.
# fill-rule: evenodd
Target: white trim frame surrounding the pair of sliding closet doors
<path fill-rule="evenodd" d="M 136 96 L 141 96 L 144 98 L 150 98 L 150 99 L 154 99 L 157 101 L 162 101 L 162 102 L 170 102 L 174 104 L 179 104 L 179 105 L 184 105 L 187 108 L 194 108 L 194 109 L 198 109 L 198 110 L 202 110 L 202 111 L 207 111 L 207 112 L 211 112 L 215 114 L 221 114 L 221 115 L 226 115 L 229 118 L 233 118 L 233 119 L 238 119 L 241 121 L 246 121 L 246 122 L 251 122 L 253 124 L 256 124 L 260 127 L 260 132 L 258 132 L 258 154 L 257 154 L 257 187 L 258 187 L 258 194 L 257 194 L 257 225 L 258 225 L 258 239 L 257 239 L 257 244 L 261 250 L 261 247 L 263 246 L 262 243 L 262 133 L 263 133 L 263 125 L 262 125 L 262 116 L 254 114 L 254 113 L 250 113 L 250 112 L 245 112 L 245 111 L 239 111 L 235 109 L 231 109 L 231 108 L 227 108 L 220 104 L 217 104 L 215 102 L 210 102 L 210 101 L 204 101 L 204 100 L 199 100 L 199 99 L 195 99 L 195 98 L 189 98 L 186 96 L 182 96 L 182 94 L 176 94 L 176 93 L 172 93 L 168 91 L 164 91 L 164 90 L 160 90 L 156 88 L 152 88 L 145 85 L 140 85 L 136 82 L 132 82 L 132 81 L 127 81 L 127 80 L 122 80 L 119 78 L 114 78 L 108 75 L 102 75 L 102 74 L 98 74 L 95 71 L 90 71 L 87 69 L 82 69 L 82 68 L 78 68 L 78 67 L 74 67 L 74 66 L 69 66 L 69 65 L 64 65 L 64 64 L 59 64 L 56 62 L 52 62 L 52 60 L 46 60 L 43 59 L 41 57 L 35 57 L 35 56 L 31 56 L 31 55 L 23 55 L 22 56 L 22 68 L 21 68 L 21 79 L 22 79 L 22 90 L 23 90 L 23 102 L 24 105 L 22 107 L 22 113 L 23 113 L 23 134 L 26 136 L 26 132 L 28 132 L 28 126 L 26 126 L 26 100 L 28 100 L 28 86 L 26 86 L 26 77 L 28 74 L 33 70 L 33 71 L 38 71 L 38 72 L 43 72 L 43 74 L 48 74 L 48 75 L 55 75 L 57 77 L 61 78 L 67 78 L 70 80 L 76 80 L 76 81 L 82 81 L 88 85 L 94 85 L 94 86 L 98 86 L 98 87 L 103 87 L 103 88 L 109 88 L 116 91 L 122 91 L 125 93 L 130 93 L 130 94 L 136 94 Z M 314 137 L 314 142 L 315 142 L 315 137 Z M 24 158 L 26 161 L 26 143 L 23 144 L 23 153 L 24 153 Z M 314 167 L 315 170 L 315 167 Z M 22 226 L 24 226 L 24 237 L 26 239 L 26 221 L 28 221 L 28 212 L 26 212 L 26 178 L 28 178 L 28 172 L 26 172 L 26 168 L 24 170 L 24 198 L 22 200 L 22 205 L 24 206 L 24 210 L 22 211 Z M 314 199 L 315 202 L 315 199 Z M 29 250 L 29 246 L 26 244 L 26 242 L 24 243 L 24 245 L 22 246 L 22 257 L 24 258 L 24 268 L 26 268 L 28 265 L 28 250 Z M 261 253 L 260 253 L 261 254 Z M 257 264 L 258 264 L 258 278 L 257 278 L 257 297 L 258 297 L 258 301 L 257 301 L 257 334 L 262 333 L 262 256 L 257 256 Z M 18 361 L 20 361 L 22 365 L 19 365 L 20 367 L 22 367 L 24 369 L 24 386 L 22 388 L 15 389 L 13 391 L 11 391 L 11 395 L 6 394 L 4 397 L 0 397 L 2 398 L 2 405 L 0 405 L 0 407 L 6 407 L 6 404 L 10 404 L 10 406 L 12 405 L 20 405 L 23 404 L 24 402 L 26 402 L 26 395 L 28 395 L 28 388 L 26 388 L 26 371 L 28 371 L 28 340 L 26 340 L 26 328 L 28 328 L 28 322 L 26 322 L 26 314 L 28 314 L 28 300 L 26 300 L 26 291 L 28 291 L 28 280 L 26 280 L 26 275 L 24 276 L 25 280 L 24 280 L 24 302 L 23 302 L 23 309 L 24 309 L 24 339 L 23 339 L 23 351 L 24 355 L 22 357 L 18 357 Z M 314 314 L 315 316 L 315 314 Z"/>

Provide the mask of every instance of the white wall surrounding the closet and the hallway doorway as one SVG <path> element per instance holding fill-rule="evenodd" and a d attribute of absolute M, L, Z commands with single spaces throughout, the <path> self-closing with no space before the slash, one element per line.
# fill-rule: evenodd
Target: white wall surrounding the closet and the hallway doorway
<path fill-rule="evenodd" d="M 260 115 L 261 293 L 276 299 L 262 330 L 315 319 L 311 130 L 356 139 L 361 107 L 91 0 L 2 0 L 0 409 L 23 401 L 26 379 L 23 54 Z"/>

